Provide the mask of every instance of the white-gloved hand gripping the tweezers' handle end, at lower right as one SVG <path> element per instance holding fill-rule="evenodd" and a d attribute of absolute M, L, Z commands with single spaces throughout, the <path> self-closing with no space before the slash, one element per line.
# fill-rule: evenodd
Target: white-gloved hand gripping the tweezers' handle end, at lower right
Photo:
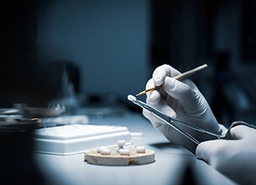
<path fill-rule="evenodd" d="M 240 184 L 256 184 L 256 129 L 236 126 L 231 129 L 235 140 L 202 142 L 196 156 Z"/>

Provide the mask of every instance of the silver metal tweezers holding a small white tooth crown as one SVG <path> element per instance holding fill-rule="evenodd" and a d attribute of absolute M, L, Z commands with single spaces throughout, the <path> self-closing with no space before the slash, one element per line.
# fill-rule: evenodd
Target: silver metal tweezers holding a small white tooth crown
<path fill-rule="evenodd" d="M 176 120 L 173 117 L 169 117 L 169 116 L 165 115 L 164 113 L 161 113 L 161 111 L 159 111 L 158 109 L 155 109 L 154 107 L 148 105 L 147 103 L 141 102 L 139 100 L 135 100 L 135 101 L 132 101 L 132 102 L 135 105 L 139 105 L 143 109 L 147 109 L 151 113 L 154 113 L 154 115 L 161 118 L 161 120 L 164 120 L 165 123 L 168 124 L 170 127 L 174 128 L 176 131 L 180 132 L 181 135 L 184 135 L 187 139 L 190 139 L 192 142 L 194 142 L 196 146 L 198 146 L 198 144 L 200 143 L 198 141 L 198 139 L 195 139 L 195 137 L 193 137 L 192 135 L 187 133 L 187 131 L 183 131 L 182 129 L 180 129 L 180 125 L 183 125 L 184 127 L 187 127 L 187 128 L 191 128 L 194 131 L 198 131 L 200 133 L 209 135 L 210 137 L 208 137 L 208 138 L 210 138 L 210 139 L 232 139 L 232 136 L 230 135 L 230 129 L 234 128 L 238 125 L 246 125 L 250 128 L 255 128 L 256 129 L 256 127 L 254 125 L 247 124 L 244 121 L 238 120 L 238 121 L 235 121 L 231 124 L 230 128 L 228 128 L 228 131 L 225 133 L 225 135 L 219 135 L 219 134 L 216 134 L 216 133 L 213 133 L 213 132 L 210 132 L 210 131 L 206 131 L 205 129 L 192 126 L 190 124 L 186 124 L 186 123 L 184 123 L 180 120 Z M 210 139 L 206 139 L 206 140 L 210 140 Z"/>

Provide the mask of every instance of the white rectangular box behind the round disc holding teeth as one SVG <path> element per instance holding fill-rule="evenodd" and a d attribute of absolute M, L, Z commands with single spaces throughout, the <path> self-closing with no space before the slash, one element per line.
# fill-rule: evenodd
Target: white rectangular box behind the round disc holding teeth
<path fill-rule="evenodd" d="M 131 143 L 132 137 L 128 128 L 92 124 L 39 128 L 35 130 L 35 152 L 57 155 L 81 154 L 85 150 L 99 146 L 113 146 L 118 139 Z"/>

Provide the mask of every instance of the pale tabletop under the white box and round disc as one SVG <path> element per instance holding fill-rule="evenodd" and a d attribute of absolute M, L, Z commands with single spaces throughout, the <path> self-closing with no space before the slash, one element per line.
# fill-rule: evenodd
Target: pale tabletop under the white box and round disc
<path fill-rule="evenodd" d="M 132 133 L 143 133 L 133 136 L 132 140 L 135 146 L 146 146 L 155 151 L 154 163 L 102 166 L 90 165 L 83 161 L 83 154 L 34 154 L 46 184 L 236 184 L 204 161 L 198 160 L 188 150 L 171 145 L 139 113 L 127 113 L 121 117 L 91 118 L 90 123 L 125 126 Z M 185 179 L 187 181 L 184 181 Z"/>

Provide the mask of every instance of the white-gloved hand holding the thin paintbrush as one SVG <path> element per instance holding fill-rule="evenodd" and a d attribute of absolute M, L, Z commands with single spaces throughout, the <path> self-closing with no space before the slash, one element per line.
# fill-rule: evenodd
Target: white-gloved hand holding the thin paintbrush
<path fill-rule="evenodd" d="M 198 91 L 195 83 L 191 80 L 180 82 L 172 78 L 179 74 L 180 72 L 170 65 L 161 65 L 156 68 L 153 78 L 147 82 L 146 89 L 154 86 L 161 87 L 156 91 L 147 93 L 147 103 L 177 120 L 204 128 L 208 131 L 213 131 L 214 133 L 220 133 L 221 128 L 206 99 Z M 185 146 L 188 150 L 195 153 L 196 146 L 193 146 L 190 140 L 180 135 L 179 132 L 165 124 L 146 109 L 143 109 L 143 115 L 150 120 L 154 128 L 161 131 L 171 142 Z M 204 140 L 202 135 L 196 135 L 191 130 L 189 131 L 198 140 Z"/>

